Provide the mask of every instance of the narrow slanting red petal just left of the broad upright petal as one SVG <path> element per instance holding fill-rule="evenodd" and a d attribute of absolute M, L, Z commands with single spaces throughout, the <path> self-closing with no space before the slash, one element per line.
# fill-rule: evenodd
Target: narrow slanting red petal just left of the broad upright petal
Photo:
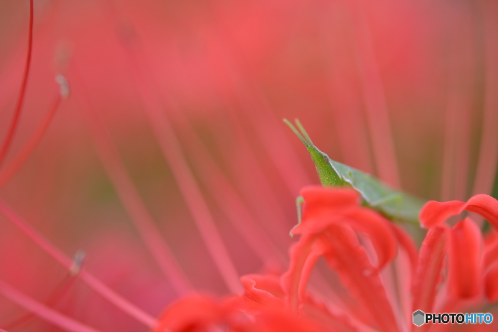
<path fill-rule="evenodd" d="M 447 225 L 442 224 L 430 228 L 425 235 L 412 281 L 413 311 L 432 312 L 436 286 L 448 251 L 449 230 Z"/>

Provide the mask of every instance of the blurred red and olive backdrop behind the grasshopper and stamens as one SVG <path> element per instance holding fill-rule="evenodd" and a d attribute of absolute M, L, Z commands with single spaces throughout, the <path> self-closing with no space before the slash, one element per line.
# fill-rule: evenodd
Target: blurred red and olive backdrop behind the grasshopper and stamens
<path fill-rule="evenodd" d="M 0 1 L 2 140 L 28 19 L 28 1 Z M 332 159 L 422 198 L 492 193 L 497 22 L 491 0 L 35 0 L 25 102 L 4 164 L 48 112 L 56 74 L 67 77 L 71 96 L 0 197 L 69 256 L 85 250 L 88 271 L 157 316 L 177 292 L 99 157 L 99 144 L 112 155 L 111 137 L 189 282 L 226 294 L 192 214 L 198 201 L 189 207 L 185 195 L 199 187 L 239 275 L 282 269 L 254 243 L 285 255 L 294 198 L 318 183 L 283 117 L 298 117 Z M 178 156 L 187 164 L 175 171 Z M 179 180 L 189 174 L 193 185 Z M 233 223 L 248 215 L 251 236 L 262 236 L 252 246 Z M 43 302 L 66 275 L 0 216 L 1 280 Z M 53 306 L 103 331 L 145 330 L 79 281 Z M 24 313 L 0 298 L 0 327 Z M 54 329 L 33 319 L 12 331 Z"/>

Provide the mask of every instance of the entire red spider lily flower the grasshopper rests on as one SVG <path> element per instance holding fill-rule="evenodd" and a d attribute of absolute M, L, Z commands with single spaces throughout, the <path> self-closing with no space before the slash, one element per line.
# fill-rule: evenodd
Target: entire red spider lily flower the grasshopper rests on
<path fill-rule="evenodd" d="M 467 203 L 427 203 L 421 211 L 421 222 L 433 226 L 413 264 L 416 249 L 409 235 L 377 212 L 362 207 L 354 190 L 306 187 L 301 195 L 305 201 L 302 221 L 292 230 L 301 238 L 291 248 L 289 270 L 280 279 L 274 275 L 248 275 L 241 279 L 245 287 L 242 296 L 222 302 L 206 297 L 182 300 L 166 311 L 157 331 L 204 331 L 216 324 L 229 326 L 230 331 L 252 331 L 258 324 L 258 331 L 307 331 L 299 327 L 304 321 L 316 324 L 313 331 L 409 331 L 410 315 L 399 310 L 404 305 L 402 298 L 412 298 L 410 309 L 405 308 L 412 312 L 463 310 L 469 304 L 464 300 L 479 303 L 483 291 L 490 302 L 496 300 L 497 279 L 493 277 L 497 267 L 497 234 L 488 236 L 483 255 L 483 236 L 474 221 L 467 218 L 453 228 L 441 224 L 464 209 L 479 211 L 493 221 L 498 217 L 495 199 L 480 195 Z M 360 233 L 367 235 L 372 246 L 359 241 Z M 414 271 L 396 272 L 399 278 L 411 279 L 411 286 L 405 283 L 405 287 L 398 288 L 403 294 L 393 298 L 381 270 L 401 263 L 401 250 L 407 254 L 405 266 L 411 265 Z M 438 290 L 446 255 L 447 282 Z M 337 314 L 329 309 L 327 301 L 313 300 L 313 291 L 307 290 L 306 284 L 320 256 L 338 273 L 344 287 L 360 303 L 362 315 L 367 317 L 359 318 L 357 312 L 348 311 Z M 268 321 L 261 321 L 263 316 L 278 322 L 279 328 L 268 328 L 272 325 L 265 325 Z M 294 330 L 286 330 L 285 324 L 295 317 L 302 320 L 292 325 Z M 306 326 L 309 324 L 312 323 Z"/>

